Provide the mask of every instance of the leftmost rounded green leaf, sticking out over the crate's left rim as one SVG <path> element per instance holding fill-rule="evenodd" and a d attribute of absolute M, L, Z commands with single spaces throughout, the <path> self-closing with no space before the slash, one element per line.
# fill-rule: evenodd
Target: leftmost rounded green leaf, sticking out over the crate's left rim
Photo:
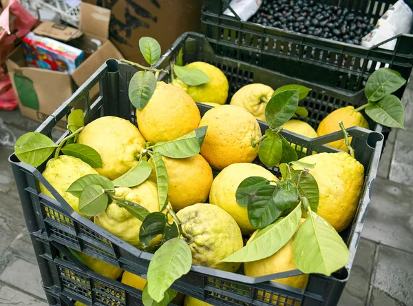
<path fill-rule="evenodd" d="M 23 134 L 14 143 L 14 153 L 23 163 L 37 167 L 49 158 L 55 147 L 57 145 L 49 137 L 37 132 L 29 132 Z"/>

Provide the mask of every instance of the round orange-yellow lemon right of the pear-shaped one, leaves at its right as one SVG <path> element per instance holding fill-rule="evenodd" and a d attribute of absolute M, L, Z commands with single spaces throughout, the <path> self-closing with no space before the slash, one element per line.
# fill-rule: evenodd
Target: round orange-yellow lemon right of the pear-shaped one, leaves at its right
<path fill-rule="evenodd" d="M 251 141 L 262 134 L 260 125 L 252 114 L 235 105 L 211 108 L 201 119 L 208 126 L 201 154 L 215 168 L 224 169 L 232 163 L 251 163 L 257 157 L 259 145 Z"/>

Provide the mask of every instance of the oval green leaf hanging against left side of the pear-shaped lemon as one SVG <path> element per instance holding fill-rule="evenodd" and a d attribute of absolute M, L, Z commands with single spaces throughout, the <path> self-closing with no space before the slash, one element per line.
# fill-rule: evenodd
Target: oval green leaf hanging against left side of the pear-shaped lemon
<path fill-rule="evenodd" d="M 128 95 L 132 105 L 143 110 L 156 88 L 156 77 L 150 71 L 138 71 L 129 82 Z"/>

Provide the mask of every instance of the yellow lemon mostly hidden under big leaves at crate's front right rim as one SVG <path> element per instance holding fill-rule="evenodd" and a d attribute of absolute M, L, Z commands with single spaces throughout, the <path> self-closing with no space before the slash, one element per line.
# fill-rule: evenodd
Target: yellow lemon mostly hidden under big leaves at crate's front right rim
<path fill-rule="evenodd" d="M 304 223 L 305 220 L 306 219 L 301 218 L 300 225 Z M 251 243 L 255 234 L 257 234 L 257 232 L 255 232 L 251 236 L 251 238 L 249 238 L 248 242 L 246 243 L 247 245 Z M 293 258 L 294 237 L 295 236 L 293 236 L 293 238 L 291 238 L 288 241 L 288 243 L 284 245 L 284 247 L 279 249 L 277 253 L 267 258 L 260 259 L 259 261 L 251 261 L 248 263 L 244 263 L 245 275 L 251 276 L 251 277 L 258 277 L 258 276 L 292 271 L 292 270 L 297 269 L 297 266 L 295 265 L 294 258 Z M 306 289 L 307 282 L 308 282 L 308 274 L 274 279 L 273 282 L 288 285 L 291 287 L 296 287 L 299 289 Z M 258 292 L 258 296 L 263 296 L 263 295 L 264 295 L 263 292 Z M 262 298 L 262 300 L 264 300 L 266 303 L 270 303 L 269 298 L 271 294 L 266 293 L 265 296 L 267 298 Z M 293 300 L 286 300 L 286 298 L 284 297 L 272 296 L 271 298 L 274 301 L 273 304 L 277 304 L 276 301 L 277 301 L 277 298 L 279 298 L 279 302 L 281 303 L 279 305 L 284 305 L 283 303 L 288 303 L 288 305 L 295 305 L 295 306 L 300 305 L 298 301 L 295 301 L 293 303 Z"/>

